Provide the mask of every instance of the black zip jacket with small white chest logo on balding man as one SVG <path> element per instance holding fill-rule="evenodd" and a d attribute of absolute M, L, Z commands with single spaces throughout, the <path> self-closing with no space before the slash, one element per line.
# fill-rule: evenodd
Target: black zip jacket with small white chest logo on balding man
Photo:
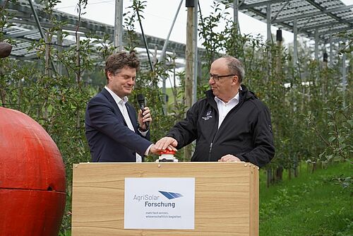
<path fill-rule="evenodd" d="M 212 90 L 186 112 L 167 136 L 177 139 L 182 148 L 196 139 L 191 161 L 217 161 L 232 154 L 240 160 L 262 167 L 275 155 L 270 111 L 244 85 L 239 104 L 229 111 L 218 129 L 218 110 Z"/>

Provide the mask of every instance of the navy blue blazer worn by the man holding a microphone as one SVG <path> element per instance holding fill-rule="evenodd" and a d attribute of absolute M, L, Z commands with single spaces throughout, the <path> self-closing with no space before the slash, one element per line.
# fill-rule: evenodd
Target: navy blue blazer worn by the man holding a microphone
<path fill-rule="evenodd" d="M 92 162 L 136 162 L 136 153 L 143 158 L 152 144 L 150 131 L 146 137 L 138 131 L 136 110 L 128 102 L 126 108 L 135 132 L 128 129 L 118 105 L 105 88 L 88 102 L 85 135 Z"/>

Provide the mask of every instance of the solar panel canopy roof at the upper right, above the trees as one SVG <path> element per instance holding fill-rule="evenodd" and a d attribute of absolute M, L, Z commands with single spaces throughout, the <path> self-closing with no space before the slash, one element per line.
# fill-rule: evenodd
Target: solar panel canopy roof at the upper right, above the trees
<path fill-rule="evenodd" d="M 234 0 L 218 0 L 234 4 Z M 289 32 L 294 31 L 297 20 L 298 35 L 328 41 L 330 35 L 343 30 L 353 32 L 353 5 L 346 6 L 340 0 L 239 0 L 239 11 L 248 16 Z"/>

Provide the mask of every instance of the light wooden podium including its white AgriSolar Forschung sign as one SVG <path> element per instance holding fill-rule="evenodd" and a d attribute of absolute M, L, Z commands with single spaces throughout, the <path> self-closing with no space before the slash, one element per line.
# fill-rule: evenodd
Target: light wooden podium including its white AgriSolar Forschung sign
<path fill-rule="evenodd" d="M 72 235 L 258 235 L 250 163 L 73 165 Z"/>

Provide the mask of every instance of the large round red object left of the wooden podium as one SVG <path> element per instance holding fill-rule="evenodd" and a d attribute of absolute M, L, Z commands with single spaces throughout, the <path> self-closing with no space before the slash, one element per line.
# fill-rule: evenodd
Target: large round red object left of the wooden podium
<path fill-rule="evenodd" d="M 65 183 L 49 134 L 28 115 L 0 107 L 0 235 L 57 236 Z"/>

